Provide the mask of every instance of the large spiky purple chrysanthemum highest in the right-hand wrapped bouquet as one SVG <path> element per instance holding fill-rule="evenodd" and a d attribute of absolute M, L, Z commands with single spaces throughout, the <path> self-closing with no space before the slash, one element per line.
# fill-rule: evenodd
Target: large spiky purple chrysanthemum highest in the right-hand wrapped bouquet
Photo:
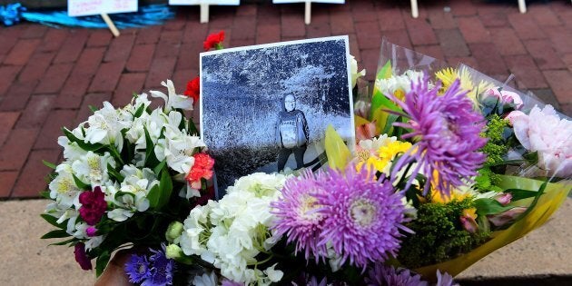
<path fill-rule="evenodd" d="M 409 176 L 408 187 L 422 168 L 422 173 L 429 179 L 425 192 L 433 183 L 439 192 L 449 196 L 452 187 L 477 175 L 476 170 L 486 160 L 485 154 L 479 153 L 478 149 L 487 143 L 487 139 L 480 136 L 485 120 L 473 109 L 467 92 L 459 87 L 459 80 L 443 95 L 437 94 L 440 86 L 438 82 L 434 88 L 429 88 L 429 76 L 425 75 L 418 83 L 411 83 L 411 91 L 405 95 L 404 102 L 396 101 L 410 120 L 409 123 L 393 124 L 412 131 L 401 138 L 419 141 L 411 152 L 399 159 L 391 175 L 395 177 L 402 167 L 415 159 L 418 165 Z"/>

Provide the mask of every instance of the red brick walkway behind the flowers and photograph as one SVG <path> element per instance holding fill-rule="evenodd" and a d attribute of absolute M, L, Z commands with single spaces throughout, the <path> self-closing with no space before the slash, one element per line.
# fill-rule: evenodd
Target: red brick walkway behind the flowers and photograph
<path fill-rule="evenodd" d="M 504 79 L 509 73 L 550 104 L 572 113 L 572 6 L 569 0 L 528 5 L 483 0 L 348 0 L 346 5 L 212 6 L 211 22 L 199 24 L 199 8 L 178 10 L 163 26 L 123 30 L 54 29 L 22 24 L 0 28 L 0 198 L 37 197 L 46 184 L 42 160 L 58 162 L 62 125 L 86 120 L 89 105 L 125 104 L 133 92 L 171 78 L 182 91 L 198 74 L 202 40 L 224 29 L 225 46 L 264 44 L 329 35 L 350 35 L 350 53 L 377 67 L 380 39 L 449 64 L 471 65 Z M 443 10 L 450 7 L 450 12 Z"/>

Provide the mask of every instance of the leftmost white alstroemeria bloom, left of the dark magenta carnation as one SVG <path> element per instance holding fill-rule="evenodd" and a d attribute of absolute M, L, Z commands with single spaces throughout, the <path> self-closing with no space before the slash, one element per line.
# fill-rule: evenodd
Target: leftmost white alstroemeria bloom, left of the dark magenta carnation
<path fill-rule="evenodd" d="M 75 205 L 79 208 L 80 190 L 74 181 L 72 166 L 68 163 L 61 163 L 55 167 L 57 176 L 48 185 L 50 189 L 50 198 L 54 199 L 58 206 L 62 209 L 71 208 Z"/>

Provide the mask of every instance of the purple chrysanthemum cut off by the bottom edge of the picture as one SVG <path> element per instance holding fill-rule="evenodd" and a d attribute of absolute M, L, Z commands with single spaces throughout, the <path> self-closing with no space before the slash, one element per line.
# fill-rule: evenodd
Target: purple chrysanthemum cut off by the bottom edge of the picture
<path fill-rule="evenodd" d="M 421 281 L 421 276 L 407 269 L 395 269 L 381 263 L 376 263 L 368 271 L 365 278 L 368 286 L 427 286 L 427 281 Z"/>

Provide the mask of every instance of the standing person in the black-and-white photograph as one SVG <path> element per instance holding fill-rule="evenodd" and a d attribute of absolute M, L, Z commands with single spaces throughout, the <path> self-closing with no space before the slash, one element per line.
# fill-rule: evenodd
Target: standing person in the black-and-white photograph
<path fill-rule="evenodd" d="M 282 99 L 283 111 L 278 114 L 276 123 L 276 142 L 280 146 L 278 154 L 278 172 L 284 170 L 291 153 L 294 153 L 296 170 L 304 165 L 304 153 L 310 140 L 306 116 L 296 109 L 296 97 L 292 94 Z"/>

